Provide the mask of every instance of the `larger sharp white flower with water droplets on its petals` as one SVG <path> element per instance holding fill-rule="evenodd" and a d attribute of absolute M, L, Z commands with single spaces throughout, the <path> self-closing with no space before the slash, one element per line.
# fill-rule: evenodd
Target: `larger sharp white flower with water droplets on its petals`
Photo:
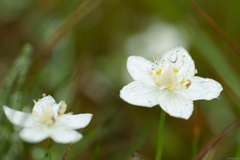
<path fill-rule="evenodd" d="M 133 82 L 124 86 L 120 97 L 126 102 L 153 107 L 157 104 L 173 117 L 188 119 L 194 100 L 217 98 L 223 90 L 215 80 L 194 76 L 194 61 L 188 52 L 178 47 L 154 62 L 139 56 L 130 56 L 127 69 Z"/>

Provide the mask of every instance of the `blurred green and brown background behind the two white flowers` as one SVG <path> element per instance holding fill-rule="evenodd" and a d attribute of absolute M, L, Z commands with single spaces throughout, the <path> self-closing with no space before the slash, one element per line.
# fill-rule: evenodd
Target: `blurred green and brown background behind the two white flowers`
<path fill-rule="evenodd" d="M 191 159 L 196 124 L 199 153 L 240 117 L 240 54 L 187 0 L 93 0 L 97 4 L 49 47 L 49 38 L 86 1 L 0 0 L 1 106 L 31 112 L 33 99 L 46 93 L 57 102 L 65 100 L 67 112 L 94 115 L 66 159 L 127 160 L 135 151 L 141 160 L 155 158 L 161 108 L 133 106 L 119 98 L 122 87 L 132 81 L 126 68 L 130 55 L 152 60 L 153 54 L 183 46 L 195 61 L 197 75 L 224 88 L 219 99 L 195 102 L 189 120 L 166 116 L 164 160 Z M 240 1 L 196 3 L 240 44 Z M 25 43 L 32 45 L 30 54 L 22 51 Z M 0 159 L 44 159 L 47 140 L 21 141 L 21 128 L 12 126 L 0 110 Z M 210 159 L 240 159 L 239 146 L 240 131 L 235 130 L 209 152 Z M 54 143 L 53 159 L 61 159 L 67 148 Z"/>

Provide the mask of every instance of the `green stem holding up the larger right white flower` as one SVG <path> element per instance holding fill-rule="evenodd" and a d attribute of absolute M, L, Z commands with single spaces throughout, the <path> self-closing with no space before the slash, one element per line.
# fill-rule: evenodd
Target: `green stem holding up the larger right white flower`
<path fill-rule="evenodd" d="M 166 116 L 166 113 L 162 110 L 159 126 L 158 126 L 158 144 L 157 144 L 156 160 L 161 160 L 162 158 L 162 148 L 163 148 L 162 140 L 163 140 L 163 127 L 164 127 L 165 116 Z"/>

